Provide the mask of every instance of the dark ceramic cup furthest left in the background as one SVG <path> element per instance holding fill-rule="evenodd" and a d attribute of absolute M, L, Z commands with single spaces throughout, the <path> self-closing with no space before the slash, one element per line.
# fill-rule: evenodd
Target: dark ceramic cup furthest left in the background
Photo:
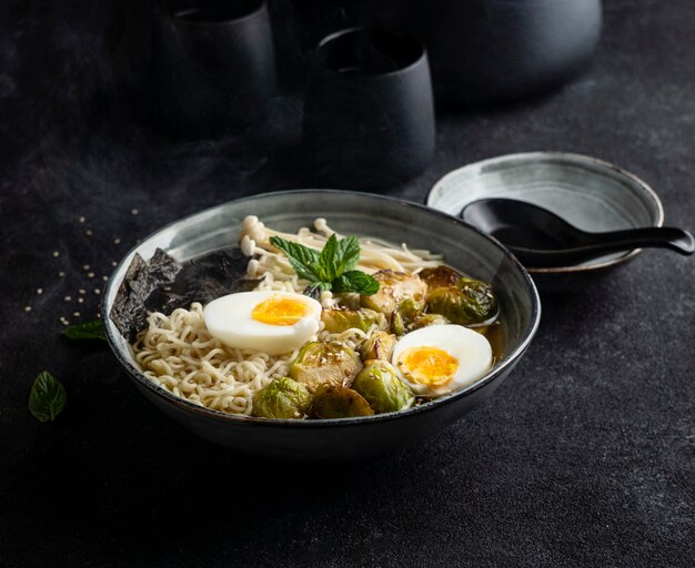
<path fill-rule="evenodd" d="M 169 6 L 155 44 L 160 114 L 169 130 L 214 135 L 266 114 L 275 63 L 263 0 Z"/>

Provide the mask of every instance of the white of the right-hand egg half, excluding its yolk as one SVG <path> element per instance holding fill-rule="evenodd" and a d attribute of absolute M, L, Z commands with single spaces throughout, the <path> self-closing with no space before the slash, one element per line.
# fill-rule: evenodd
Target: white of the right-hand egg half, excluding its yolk
<path fill-rule="evenodd" d="M 447 385 L 429 386 L 409 381 L 399 368 L 397 359 L 411 347 L 439 347 L 457 359 L 459 368 Z M 492 346 L 487 338 L 462 325 L 430 325 L 404 335 L 395 345 L 391 358 L 401 379 L 419 396 L 437 397 L 474 383 L 492 366 Z"/>

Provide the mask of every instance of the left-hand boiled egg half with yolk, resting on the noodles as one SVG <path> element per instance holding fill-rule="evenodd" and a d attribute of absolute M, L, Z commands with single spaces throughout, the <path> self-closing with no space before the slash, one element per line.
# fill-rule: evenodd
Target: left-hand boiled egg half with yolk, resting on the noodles
<path fill-rule="evenodd" d="M 281 355 L 319 331 L 321 304 L 293 292 L 241 292 L 210 302 L 203 318 L 211 335 L 230 347 Z"/>

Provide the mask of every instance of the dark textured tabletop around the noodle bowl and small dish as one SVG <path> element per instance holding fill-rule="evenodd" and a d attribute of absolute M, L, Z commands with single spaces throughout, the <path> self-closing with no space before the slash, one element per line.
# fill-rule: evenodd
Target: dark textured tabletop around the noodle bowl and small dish
<path fill-rule="evenodd" d="M 66 341 L 59 318 L 93 317 L 112 261 L 154 227 L 311 174 L 275 146 L 175 142 L 113 111 L 93 9 L 3 11 L 0 565 L 694 565 L 693 260 L 647 251 L 544 297 L 516 371 L 423 446 L 343 467 L 240 459 L 157 413 L 108 348 Z M 464 163 L 565 150 L 636 173 L 668 224 L 695 229 L 694 30 L 692 0 L 606 1 L 584 74 L 441 114 L 434 161 L 391 193 L 421 201 Z M 280 100 L 278 123 L 291 130 L 298 108 Z M 48 424 L 27 409 L 42 369 L 69 396 Z"/>

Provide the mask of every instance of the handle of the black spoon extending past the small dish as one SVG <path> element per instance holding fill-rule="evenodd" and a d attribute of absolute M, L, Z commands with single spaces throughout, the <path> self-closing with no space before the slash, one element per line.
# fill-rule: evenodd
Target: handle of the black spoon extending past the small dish
<path fill-rule="evenodd" d="M 591 235 L 591 236 L 590 236 Z M 647 226 L 612 231 L 610 233 L 586 233 L 586 248 L 594 252 L 618 252 L 631 248 L 669 248 L 688 255 L 695 251 L 695 239 L 687 231 L 671 226 Z"/>

